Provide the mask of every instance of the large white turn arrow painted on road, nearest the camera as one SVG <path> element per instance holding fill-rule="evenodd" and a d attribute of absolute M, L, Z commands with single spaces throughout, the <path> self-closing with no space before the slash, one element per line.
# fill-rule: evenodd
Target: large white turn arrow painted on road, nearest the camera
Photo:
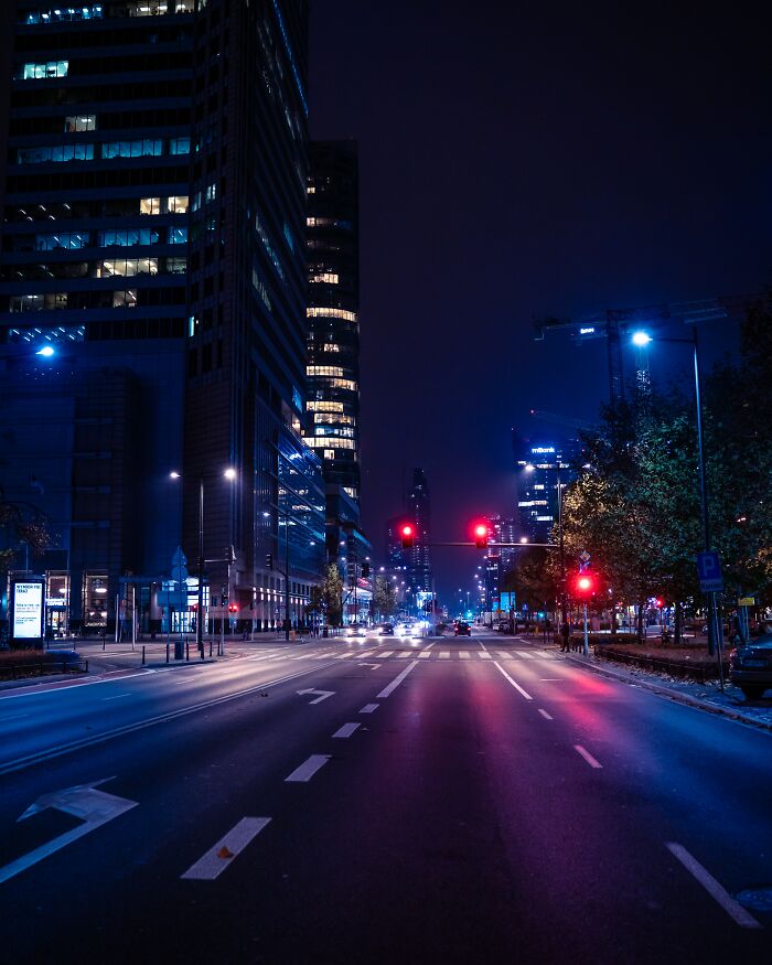
<path fill-rule="evenodd" d="M 62 848 L 87 835 L 89 832 L 96 830 L 114 817 L 118 817 L 132 807 L 137 807 L 137 801 L 128 801 L 126 797 L 117 797 L 115 794 L 106 794 L 104 791 L 97 791 L 97 784 L 104 784 L 107 781 L 112 781 L 112 778 L 103 778 L 101 781 L 93 781 L 90 784 L 78 784 L 76 787 L 65 787 L 62 791 L 54 791 L 51 794 L 43 794 L 31 804 L 30 807 L 18 818 L 24 821 L 25 817 L 31 817 L 46 807 L 53 807 L 56 811 L 64 811 L 65 814 L 72 814 L 74 817 L 82 817 L 84 824 L 78 827 L 60 835 L 56 838 L 41 845 L 33 851 L 22 855 L 4 868 L 0 868 L 0 883 L 8 881 L 21 871 L 25 871 L 55 851 L 61 851 Z"/>

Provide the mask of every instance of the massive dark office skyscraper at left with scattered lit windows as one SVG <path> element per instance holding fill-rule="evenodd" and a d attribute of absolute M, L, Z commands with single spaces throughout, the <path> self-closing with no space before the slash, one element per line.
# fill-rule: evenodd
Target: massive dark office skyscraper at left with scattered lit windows
<path fill-rule="evenodd" d="M 161 582 L 178 545 L 197 577 L 202 537 L 206 601 L 267 623 L 289 593 L 294 615 L 324 545 L 300 438 L 307 2 L 18 0 L 12 29 L 0 366 L 26 436 L 6 497 L 44 467 L 26 500 L 74 622 L 129 587 L 141 625 L 192 621 Z"/>

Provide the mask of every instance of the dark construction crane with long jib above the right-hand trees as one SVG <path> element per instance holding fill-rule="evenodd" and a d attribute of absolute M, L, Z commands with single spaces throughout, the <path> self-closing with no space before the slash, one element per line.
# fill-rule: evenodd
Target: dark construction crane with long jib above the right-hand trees
<path fill-rule="evenodd" d="M 624 399 L 622 335 L 642 325 L 656 330 L 672 322 L 696 325 L 699 322 L 727 319 L 757 299 L 758 296 L 730 296 L 701 301 L 665 302 L 641 308 L 605 309 L 580 319 L 545 318 L 534 322 L 535 337 L 540 341 L 547 332 L 562 330 L 568 331 L 576 342 L 605 339 L 609 363 L 609 400 L 613 405 Z M 644 361 L 639 363 L 636 376 L 636 383 L 644 392 L 648 385 L 648 371 L 642 366 L 646 365 L 647 363 Z"/>

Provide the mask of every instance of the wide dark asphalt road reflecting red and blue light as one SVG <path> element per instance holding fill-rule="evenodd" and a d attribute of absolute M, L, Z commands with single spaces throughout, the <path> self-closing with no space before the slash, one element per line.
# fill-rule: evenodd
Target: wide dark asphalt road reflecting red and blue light
<path fill-rule="evenodd" d="M 2 962 L 769 955 L 772 735 L 534 643 L 271 643 L 0 727 Z"/>

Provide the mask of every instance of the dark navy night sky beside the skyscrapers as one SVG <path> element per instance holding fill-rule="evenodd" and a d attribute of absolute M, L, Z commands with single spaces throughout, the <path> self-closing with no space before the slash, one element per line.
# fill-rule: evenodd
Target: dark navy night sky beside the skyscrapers
<path fill-rule="evenodd" d="M 769 283 L 769 23 L 732 6 L 311 0 L 312 137 L 360 142 L 378 557 L 414 465 L 435 538 L 469 538 L 475 513 L 512 513 L 511 428 L 557 428 L 529 409 L 597 415 L 604 343 L 535 342 L 534 318 Z M 708 357 L 732 328 L 705 326 Z M 438 551 L 438 592 L 476 561 Z"/>

